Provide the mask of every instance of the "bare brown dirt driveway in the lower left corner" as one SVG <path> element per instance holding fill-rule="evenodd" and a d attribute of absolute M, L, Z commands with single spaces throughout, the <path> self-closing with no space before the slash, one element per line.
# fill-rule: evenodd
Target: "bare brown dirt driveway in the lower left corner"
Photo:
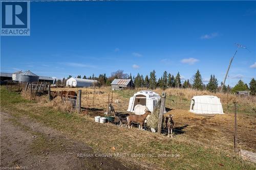
<path fill-rule="evenodd" d="M 1 165 L 12 169 L 140 169 L 26 117 L 1 112 Z"/>

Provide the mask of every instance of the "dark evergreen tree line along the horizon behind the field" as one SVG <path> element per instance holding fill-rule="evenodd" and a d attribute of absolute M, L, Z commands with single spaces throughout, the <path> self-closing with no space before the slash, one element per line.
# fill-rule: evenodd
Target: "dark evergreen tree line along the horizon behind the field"
<path fill-rule="evenodd" d="M 70 75 L 67 79 L 71 78 Z M 81 78 L 81 75 L 78 75 L 76 78 Z M 55 80 L 55 84 L 57 86 L 65 86 L 67 79 L 63 78 L 61 80 Z M 203 79 L 199 70 L 197 70 L 196 74 L 191 79 L 191 82 L 186 79 L 181 82 L 181 76 L 178 72 L 177 75 L 172 75 L 167 71 L 164 71 L 162 76 L 157 79 L 156 71 L 153 70 L 150 72 L 150 75 L 146 75 L 145 77 L 141 74 L 137 74 L 137 76 L 132 76 L 132 74 L 126 74 L 123 70 L 117 70 L 111 73 L 110 77 L 106 77 L 106 74 L 100 74 L 98 77 L 95 77 L 93 74 L 90 77 L 83 76 L 82 79 L 91 79 L 99 81 L 102 86 L 109 86 L 114 79 L 132 79 L 134 86 L 136 88 L 149 88 L 156 89 L 162 88 L 163 90 L 166 88 L 193 88 L 197 90 L 208 90 L 210 92 L 218 92 L 220 91 L 223 83 L 221 82 L 220 86 L 215 75 L 210 75 L 209 82 L 207 84 L 203 83 Z M 230 88 L 229 85 L 224 85 L 223 92 L 237 92 L 237 91 L 245 91 L 250 90 L 250 94 L 255 95 L 256 93 L 256 81 L 254 78 L 251 79 L 249 86 L 244 83 L 242 80 L 239 80 L 236 86 Z"/>

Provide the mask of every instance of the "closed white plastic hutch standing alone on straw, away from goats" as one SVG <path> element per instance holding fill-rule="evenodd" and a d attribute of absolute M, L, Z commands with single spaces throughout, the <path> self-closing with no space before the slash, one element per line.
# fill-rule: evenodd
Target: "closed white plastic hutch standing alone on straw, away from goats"
<path fill-rule="evenodd" d="M 198 95 L 191 99 L 190 112 L 195 114 L 224 114 L 220 99 L 214 95 Z"/>

